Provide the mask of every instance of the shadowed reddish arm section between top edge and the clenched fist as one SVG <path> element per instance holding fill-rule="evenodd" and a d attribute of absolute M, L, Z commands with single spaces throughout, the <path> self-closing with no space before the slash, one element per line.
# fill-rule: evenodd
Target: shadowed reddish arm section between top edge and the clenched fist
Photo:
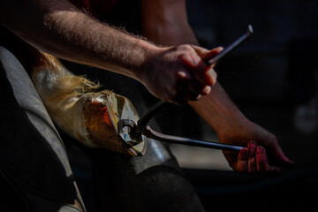
<path fill-rule="evenodd" d="M 142 0 L 142 33 L 161 45 L 193 44 L 198 40 L 189 26 L 186 0 Z"/>

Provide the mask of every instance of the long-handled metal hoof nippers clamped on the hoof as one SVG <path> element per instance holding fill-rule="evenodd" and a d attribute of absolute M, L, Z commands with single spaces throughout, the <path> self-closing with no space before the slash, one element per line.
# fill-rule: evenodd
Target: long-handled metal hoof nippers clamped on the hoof
<path fill-rule="evenodd" d="M 218 62 L 221 58 L 229 54 L 233 49 L 237 48 L 239 44 L 246 41 L 246 39 L 253 34 L 253 27 L 249 25 L 247 27 L 247 32 L 245 34 L 242 34 L 235 42 L 232 42 L 229 46 L 227 46 L 223 51 L 221 51 L 219 54 L 217 54 L 215 57 L 208 60 L 208 64 L 215 64 Z M 128 134 L 125 134 L 125 137 L 127 138 L 125 142 L 128 145 L 136 145 L 140 143 L 142 140 L 142 136 L 146 136 L 147 138 L 154 139 L 154 140 L 160 140 L 163 142 L 169 142 L 169 143 L 177 143 L 177 144 L 184 144 L 189 146 L 197 146 L 197 147 L 203 147 L 203 148 L 216 148 L 216 149 L 222 149 L 227 151 L 239 151 L 242 149 L 242 147 L 239 146 L 233 146 L 233 145 L 227 145 L 222 144 L 218 142 L 212 142 L 212 141 L 205 141 L 205 140 L 193 140 L 189 138 L 183 138 L 178 137 L 174 135 L 167 135 L 163 133 L 158 133 L 152 130 L 148 126 L 149 120 L 155 116 L 155 114 L 162 110 L 163 107 L 166 105 L 166 102 L 157 102 L 150 110 L 148 110 L 145 114 L 143 114 L 140 119 L 135 123 L 131 119 L 121 119 L 117 122 L 117 133 L 121 134 L 124 133 L 123 129 L 125 127 L 128 127 Z"/>

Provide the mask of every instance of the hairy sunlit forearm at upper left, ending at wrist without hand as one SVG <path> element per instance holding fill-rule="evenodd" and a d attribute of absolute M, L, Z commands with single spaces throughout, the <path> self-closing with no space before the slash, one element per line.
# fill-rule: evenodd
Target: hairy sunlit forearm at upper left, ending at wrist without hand
<path fill-rule="evenodd" d="M 57 57 L 138 79 L 146 57 L 156 49 L 149 42 L 90 18 L 65 0 L 7 4 L 4 27 Z"/>

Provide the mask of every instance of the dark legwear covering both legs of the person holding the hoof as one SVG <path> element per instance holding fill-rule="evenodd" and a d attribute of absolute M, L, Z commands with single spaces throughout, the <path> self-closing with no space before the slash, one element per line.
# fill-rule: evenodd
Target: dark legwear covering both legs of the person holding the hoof
<path fill-rule="evenodd" d="M 0 209 L 79 211 L 63 141 L 27 72 L 0 47 Z M 204 211 L 169 148 L 148 140 L 147 154 L 129 157 L 87 149 L 98 211 Z"/>

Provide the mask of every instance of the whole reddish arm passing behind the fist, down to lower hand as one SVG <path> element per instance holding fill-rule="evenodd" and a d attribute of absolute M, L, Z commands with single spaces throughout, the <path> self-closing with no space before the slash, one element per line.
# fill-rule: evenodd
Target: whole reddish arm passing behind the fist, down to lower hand
<path fill-rule="evenodd" d="M 143 34 L 149 40 L 165 45 L 199 44 L 187 22 L 186 0 L 144 0 L 142 3 Z M 212 52 L 220 50 L 212 49 Z M 214 55 L 206 49 L 198 48 L 197 52 L 203 59 Z M 279 167 L 293 164 L 284 155 L 276 137 L 248 120 L 219 83 L 211 87 L 209 95 L 189 104 L 215 129 L 220 142 L 246 147 L 239 154 L 224 152 L 233 170 L 266 175 L 276 174 Z"/>

